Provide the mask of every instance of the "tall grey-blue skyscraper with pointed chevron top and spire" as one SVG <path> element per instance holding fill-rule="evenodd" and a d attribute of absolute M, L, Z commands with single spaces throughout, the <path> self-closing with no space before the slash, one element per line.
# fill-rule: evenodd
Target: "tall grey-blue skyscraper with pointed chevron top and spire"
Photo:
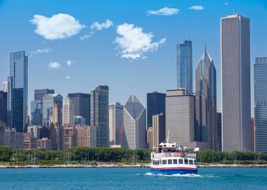
<path fill-rule="evenodd" d="M 195 140 L 219 151 L 216 114 L 216 69 L 205 48 L 195 70 Z"/>

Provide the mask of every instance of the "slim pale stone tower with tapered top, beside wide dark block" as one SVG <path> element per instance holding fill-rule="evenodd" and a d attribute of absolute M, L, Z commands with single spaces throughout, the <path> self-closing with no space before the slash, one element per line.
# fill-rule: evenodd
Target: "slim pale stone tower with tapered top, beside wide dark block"
<path fill-rule="evenodd" d="M 73 113 L 72 100 L 67 97 L 63 102 L 63 125 L 72 126 L 74 125 L 74 113 Z"/>

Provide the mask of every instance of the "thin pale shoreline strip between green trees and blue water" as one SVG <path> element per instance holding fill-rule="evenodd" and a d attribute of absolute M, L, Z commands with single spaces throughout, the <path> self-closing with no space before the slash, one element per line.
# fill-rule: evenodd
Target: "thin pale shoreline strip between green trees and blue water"
<path fill-rule="evenodd" d="M 96 168 L 96 167 L 105 167 L 105 168 L 112 168 L 112 167 L 121 167 L 121 168 L 135 168 L 135 167 L 150 167 L 148 164 L 136 164 L 136 165 L 108 165 L 108 164 L 98 164 L 98 165 L 0 165 L 0 169 L 5 168 Z M 198 165 L 197 167 L 267 167 L 267 165 Z"/>

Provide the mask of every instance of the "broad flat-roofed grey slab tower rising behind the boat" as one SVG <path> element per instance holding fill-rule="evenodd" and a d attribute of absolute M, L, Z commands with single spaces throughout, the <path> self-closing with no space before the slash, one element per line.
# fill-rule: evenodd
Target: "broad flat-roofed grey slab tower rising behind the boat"
<path fill-rule="evenodd" d="M 194 141 L 195 97 L 185 90 L 167 90 L 166 135 L 176 144 Z"/>

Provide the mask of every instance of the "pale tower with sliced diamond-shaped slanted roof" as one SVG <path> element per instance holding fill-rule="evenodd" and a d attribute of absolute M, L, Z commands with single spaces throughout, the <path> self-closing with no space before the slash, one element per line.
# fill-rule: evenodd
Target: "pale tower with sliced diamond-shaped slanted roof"
<path fill-rule="evenodd" d="M 124 148 L 145 148 L 145 116 L 145 107 L 136 96 L 131 95 L 124 106 Z"/>

